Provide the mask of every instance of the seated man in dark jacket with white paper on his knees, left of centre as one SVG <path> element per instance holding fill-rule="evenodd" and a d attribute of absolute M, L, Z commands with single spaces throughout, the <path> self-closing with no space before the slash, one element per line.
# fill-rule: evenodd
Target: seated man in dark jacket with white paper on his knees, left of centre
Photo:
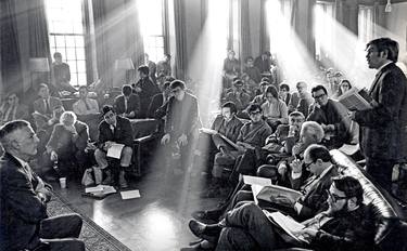
<path fill-rule="evenodd" d="M 118 173 L 120 188 L 128 187 L 125 179 L 125 169 L 130 166 L 132 156 L 132 128 L 130 120 L 117 116 L 112 106 L 104 106 L 104 120 L 99 124 L 99 143 L 94 151 L 94 158 L 101 169 L 106 169 L 106 179 L 103 184 L 110 185 Z M 114 161 L 107 162 L 107 150 L 113 144 L 123 144 L 119 167 L 112 167 Z M 109 167 L 107 167 L 109 166 Z M 112 173 L 113 172 L 113 173 Z"/>

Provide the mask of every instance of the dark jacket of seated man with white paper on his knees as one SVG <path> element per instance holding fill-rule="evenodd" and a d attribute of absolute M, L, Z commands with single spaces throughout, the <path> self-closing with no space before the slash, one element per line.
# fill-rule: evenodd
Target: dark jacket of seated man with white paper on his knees
<path fill-rule="evenodd" d="M 107 141 L 112 141 L 125 146 L 132 147 L 132 128 L 130 120 L 116 116 L 117 123 L 114 133 L 111 130 L 111 126 L 106 121 L 102 121 L 99 124 L 99 147 L 103 148 L 103 145 Z"/>

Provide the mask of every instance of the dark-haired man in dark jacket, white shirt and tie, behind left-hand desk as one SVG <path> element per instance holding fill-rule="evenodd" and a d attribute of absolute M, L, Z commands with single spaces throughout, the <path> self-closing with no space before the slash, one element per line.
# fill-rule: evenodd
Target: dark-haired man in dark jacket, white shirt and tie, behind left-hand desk
<path fill-rule="evenodd" d="M 140 115 L 139 95 L 131 93 L 131 85 L 125 84 L 122 88 L 122 95 L 114 100 L 113 107 L 122 117 L 128 119 L 138 118 Z"/>

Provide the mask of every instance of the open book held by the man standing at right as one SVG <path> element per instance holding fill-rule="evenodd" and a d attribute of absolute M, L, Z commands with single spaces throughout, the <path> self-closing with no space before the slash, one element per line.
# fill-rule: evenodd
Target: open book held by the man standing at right
<path fill-rule="evenodd" d="M 370 100 L 371 98 L 364 89 L 359 91 L 357 88 L 352 88 L 338 98 L 338 101 L 348 110 L 370 109 L 372 108 Z"/>

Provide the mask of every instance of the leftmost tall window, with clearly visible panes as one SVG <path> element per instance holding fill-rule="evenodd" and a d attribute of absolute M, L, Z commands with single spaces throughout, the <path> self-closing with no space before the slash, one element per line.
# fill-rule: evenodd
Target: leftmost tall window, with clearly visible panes
<path fill-rule="evenodd" d="M 71 84 L 86 85 L 82 0 L 46 0 L 51 55 L 62 54 L 69 65 Z"/>

